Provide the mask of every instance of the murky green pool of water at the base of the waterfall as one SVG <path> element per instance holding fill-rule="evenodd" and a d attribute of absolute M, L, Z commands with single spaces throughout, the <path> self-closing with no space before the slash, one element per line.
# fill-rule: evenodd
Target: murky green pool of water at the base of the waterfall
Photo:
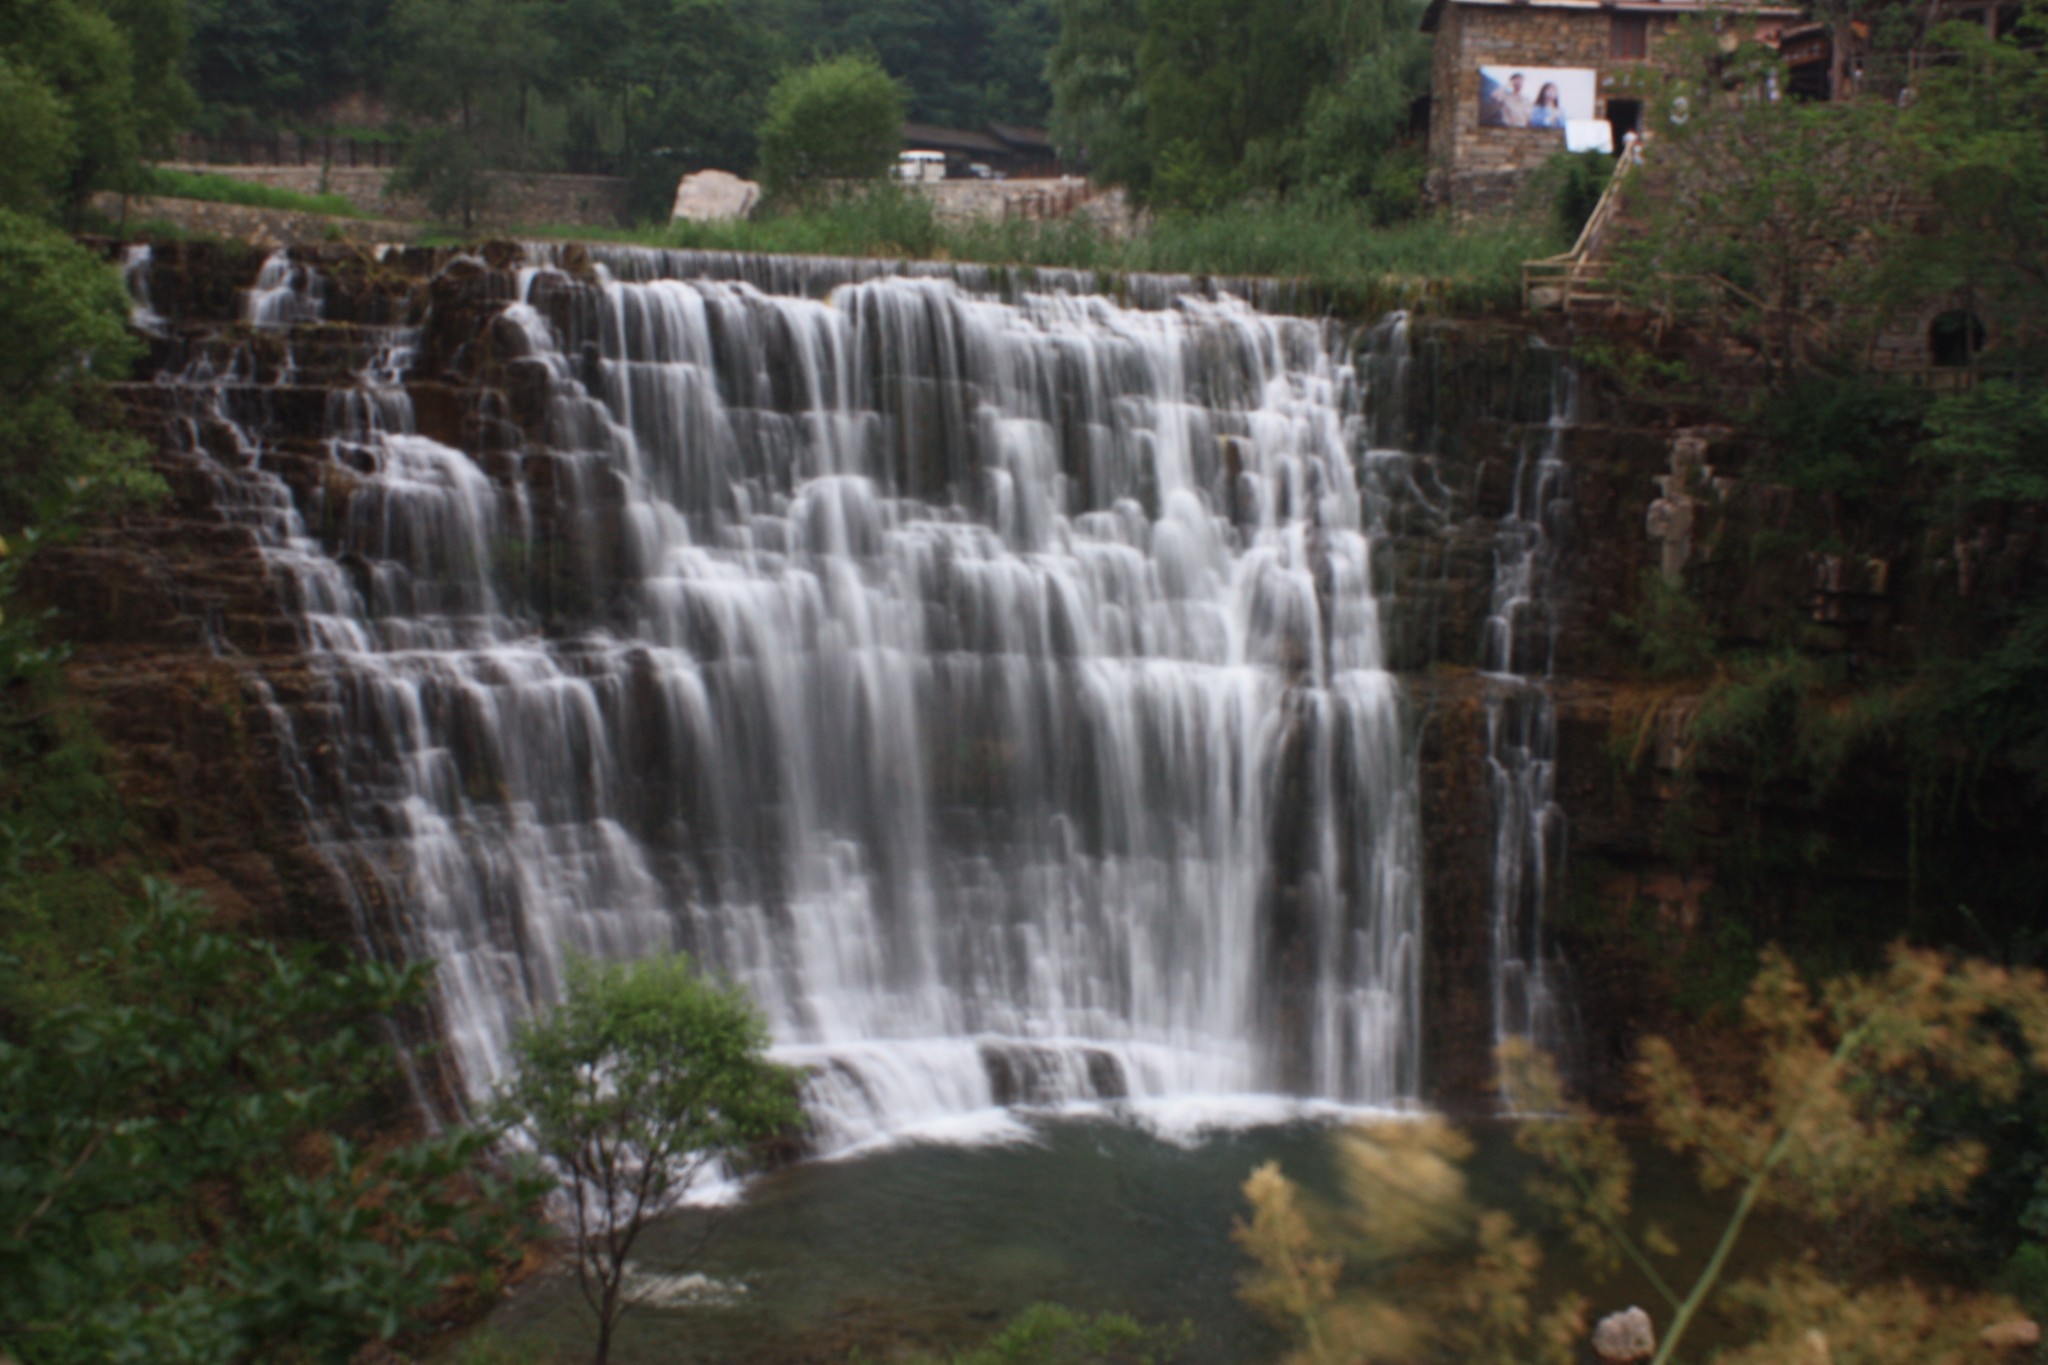
<path fill-rule="evenodd" d="M 1266 1160 L 1331 1195 L 1331 1124 L 1165 1138 L 1141 1121 L 1069 1113 L 1024 1117 L 1018 1128 L 1024 1136 L 1004 1144 L 905 1142 L 803 1162 L 754 1181 L 729 1207 L 664 1218 L 635 1248 L 637 1283 L 657 1302 L 623 1318 L 612 1361 L 883 1363 L 971 1347 L 1034 1302 L 1186 1320 L 1194 1342 L 1180 1359 L 1190 1365 L 1284 1355 L 1284 1336 L 1237 1302 L 1247 1263 L 1231 1224 L 1245 1216 L 1245 1177 Z M 1520 1193 L 1530 1162 L 1511 1128 L 1468 1132 L 1475 1201 L 1530 1226 Z M 1690 1252 L 1667 1267 L 1686 1283 L 1729 1203 L 1702 1197 L 1683 1162 L 1647 1144 L 1636 1160 L 1636 1209 Z M 1774 1259 L 1784 1240 L 1753 1226 L 1741 1259 L 1749 1267 Z M 1585 1293 L 1593 1316 L 1655 1308 L 1645 1283 L 1593 1273 L 1552 1246 L 1536 1306 L 1565 1291 Z M 1718 1334 L 1712 1322 L 1702 1326 Z M 485 1330 L 543 1361 L 584 1361 L 594 1340 L 565 1267 L 516 1289 Z"/>

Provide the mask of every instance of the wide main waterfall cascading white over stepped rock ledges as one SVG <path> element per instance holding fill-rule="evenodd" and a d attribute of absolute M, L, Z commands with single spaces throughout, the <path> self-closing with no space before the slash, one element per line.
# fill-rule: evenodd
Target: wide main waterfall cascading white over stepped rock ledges
<path fill-rule="evenodd" d="M 528 260 L 465 448 L 422 434 L 418 329 L 358 329 L 313 477 L 221 401 L 252 372 L 166 379 L 344 737 L 315 837 L 365 935 L 438 964 L 471 1093 L 569 954 L 668 948 L 750 988 L 825 1150 L 1417 1093 L 1415 759 L 1333 325 L 1192 282 Z M 276 256 L 244 321 L 322 299 Z"/>

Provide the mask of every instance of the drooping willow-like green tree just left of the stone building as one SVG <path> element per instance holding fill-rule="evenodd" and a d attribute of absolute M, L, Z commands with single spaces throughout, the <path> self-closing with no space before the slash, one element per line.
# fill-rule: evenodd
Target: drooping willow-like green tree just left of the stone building
<path fill-rule="evenodd" d="M 1053 133 L 1106 180 L 1165 205 L 1245 192 L 1413 209 L 1399 156 L 1427 88 L 1421 8 L 1407 0 L 1059 0 L 1047 74 Z"/>

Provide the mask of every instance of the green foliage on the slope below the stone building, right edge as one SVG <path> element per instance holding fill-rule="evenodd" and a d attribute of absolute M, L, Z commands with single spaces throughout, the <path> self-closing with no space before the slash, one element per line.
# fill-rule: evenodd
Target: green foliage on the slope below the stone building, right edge
<path fill-rule="evenodd" d="M 1638 80 L 1659 127 L 1618 280 L 1665 315 L 1731 327 L 1778 385 L 1864 364 L 1880 334 L 1925 325 L 1939 299 L 1976 315 L 1987 364 L 2038 372 L 2044 25 L 2038 2 L 2003 37 L 1909 25 L 1901 41 L 1927 45 L 1911 98 L 1827 104 L 1763 98 L 1784 78 L 1776 51 L 1731 51 L 1698 29 L 1671 72 Z"/>

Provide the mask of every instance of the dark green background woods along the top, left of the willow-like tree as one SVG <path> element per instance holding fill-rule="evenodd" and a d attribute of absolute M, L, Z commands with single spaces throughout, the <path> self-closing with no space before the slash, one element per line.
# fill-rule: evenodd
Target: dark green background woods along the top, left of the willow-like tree
<path fill-rule="evenodd" d="M 481 168 L 627 174 L 653 217 L 682 172 L 754 168 L 784 72 L 868 55 L 913 119 L 1030 125 L 1051 41 L 1047 0 L 193 0 L 186 70 L 211 133 L 360 133 L 381 96 L 457 217 Z"/>

